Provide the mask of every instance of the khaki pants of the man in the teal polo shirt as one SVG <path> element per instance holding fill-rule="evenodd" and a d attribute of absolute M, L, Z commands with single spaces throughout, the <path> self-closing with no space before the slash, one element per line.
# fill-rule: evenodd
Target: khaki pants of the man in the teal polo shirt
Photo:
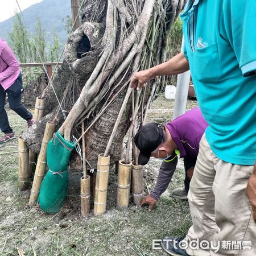
<path fill-rule="evenodd" d="M 253 167 L 218 159 L 203 135 L 188 192 L 193 225 L 185 241 L 212 241 L 220 249 L 188 247 L 189 255 L 256 255 L 256 224 L 245 194 Z"/>

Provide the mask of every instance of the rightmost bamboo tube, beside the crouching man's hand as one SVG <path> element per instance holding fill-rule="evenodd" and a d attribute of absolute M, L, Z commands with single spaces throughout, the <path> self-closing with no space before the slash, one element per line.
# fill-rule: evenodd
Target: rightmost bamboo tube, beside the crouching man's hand
<path fill-rule="evenodd" d="M 133 195 L 133 203 L 140 205 L 144 196 L 143 189 L 143 166 L 133 165 L 131 166 L 131 191 Z"/>

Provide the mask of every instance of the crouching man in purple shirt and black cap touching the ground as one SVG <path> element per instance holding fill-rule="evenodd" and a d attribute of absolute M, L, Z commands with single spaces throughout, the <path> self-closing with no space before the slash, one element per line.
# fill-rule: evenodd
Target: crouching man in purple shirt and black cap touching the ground
<path fill-rule="evenodd" d="M 207 128 L 199 107 L 180 115 L 167 125 L 147 123 L 134 137 L 139 148 L 139 164 L 147 164 L 150 157 L 163 159 L 159 170 L 158 180 L 151 194 L 144 197 L 141 206 L 149 204 L 152 210 L 159 196 L 166 191 L 177 166 L 177 154 L 184 158 L 185 180 L 184 188 L 173 191 L 179 199 L 187 199 L 189 183 L 199 152 L 199 142 Z"/>

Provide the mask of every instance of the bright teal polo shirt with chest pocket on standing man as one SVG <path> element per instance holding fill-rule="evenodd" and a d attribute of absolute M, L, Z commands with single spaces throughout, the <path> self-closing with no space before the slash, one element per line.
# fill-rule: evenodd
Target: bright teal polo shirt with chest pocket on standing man
<path fill-rule="evenodd" d="M 210 148 L 225 162 L 254 164 L 256 1 L 188 0 L 180 16 Z"/>

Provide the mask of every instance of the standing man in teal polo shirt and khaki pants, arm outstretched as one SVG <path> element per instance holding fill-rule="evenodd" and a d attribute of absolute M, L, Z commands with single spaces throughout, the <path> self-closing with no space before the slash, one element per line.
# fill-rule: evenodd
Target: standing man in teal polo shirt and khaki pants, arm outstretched
<path fill-rule="evenodd" d="M 209 123 L 188 193 L 193 225 L 162 246 L 171 255 L 256 255 L 256 1 L 188 0 L 181 19 L 184 53 L 131 77 L 141 89 L 190 68 Z"/>

